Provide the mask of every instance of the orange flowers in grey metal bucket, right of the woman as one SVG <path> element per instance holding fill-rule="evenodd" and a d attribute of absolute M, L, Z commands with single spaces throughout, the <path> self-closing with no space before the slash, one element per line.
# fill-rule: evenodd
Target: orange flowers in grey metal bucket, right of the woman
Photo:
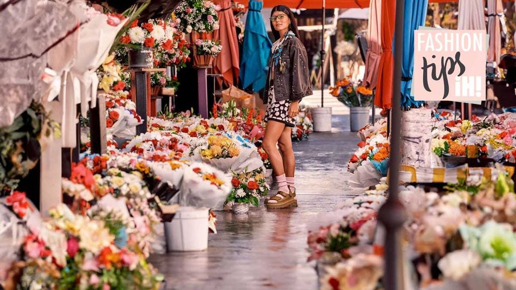
<path fill-rule="evenodd" d="M 335 87 L 330 88 L 331 94 L 341 103 L 349 107 L 351 132 L 358 132 L 369 123 L 369 109 L 373 101 L 373 90 L 361 83 L 353 84 L 344 78 Z"/>

